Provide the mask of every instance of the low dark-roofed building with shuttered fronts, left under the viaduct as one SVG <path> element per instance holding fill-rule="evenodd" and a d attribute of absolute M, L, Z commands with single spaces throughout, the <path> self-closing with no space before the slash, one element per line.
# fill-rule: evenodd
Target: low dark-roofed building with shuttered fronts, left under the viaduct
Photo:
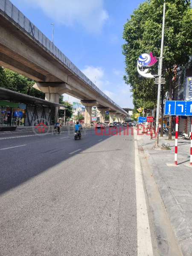
<path fill-rule="evenodd" d="M 0 130 L 11 131 L 11 128 L 33 126 L 41 121 L 52 125 L 58 118 L 55 108 L 61 107 L 67 106 L 0 87 Z"/>

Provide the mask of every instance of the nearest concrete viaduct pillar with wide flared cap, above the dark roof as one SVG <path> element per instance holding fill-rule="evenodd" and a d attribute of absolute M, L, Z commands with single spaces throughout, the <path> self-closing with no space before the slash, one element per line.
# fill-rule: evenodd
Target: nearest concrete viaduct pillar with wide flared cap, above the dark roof
<path fill-rule="evenodd" d="M 35 83 L 33 87 L 45 93 L 45 100 L 55 103 L 59 103 L 59 95 L 71 91 L 70 86 L 65 83 Z M 55 111 L 52 113 L 51 119 L 56 121 L 58 118 L 57 115 L 58 107 L 55 107 Z"/>

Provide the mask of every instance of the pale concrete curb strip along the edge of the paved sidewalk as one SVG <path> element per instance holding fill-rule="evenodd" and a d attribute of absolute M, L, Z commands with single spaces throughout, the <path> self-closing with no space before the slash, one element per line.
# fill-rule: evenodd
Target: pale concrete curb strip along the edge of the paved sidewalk
<path fill-rule="evenodd" d="M 154 180 L 157 184 L 160 196 L 162 198 L 163 204 L 165 206 L 167 215 L 172 224 L 176 239 L 180 245 L 183 256 L 192 255 L 192 230 L 190 224 L 184 217 L 183 210 L 180 205 L 177 204 L 177 201 L 169 189 L 168 184 L 164 180 L 163 176 L 160 174 L 160 170 L 155 163 L 150 152 L 147 150 L 143 140 L 140 140 L 143 151 L 145 154 L 148 154 L 147 157 L 148 164 L 151 168 L 151 173 L 154 176 Z"/>

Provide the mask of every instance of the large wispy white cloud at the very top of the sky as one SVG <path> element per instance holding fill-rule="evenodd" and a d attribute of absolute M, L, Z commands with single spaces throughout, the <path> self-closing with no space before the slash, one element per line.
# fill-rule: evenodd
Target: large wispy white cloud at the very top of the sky
<path fill-rule="evenodd" d="M 21 0 L 20 0 L 21 1 Z M 66 26 L 82 26 L 93 34 L 101 31 L 108 20 L 104 0 L 25 0 L 30 5 L 39 6 L 44 13 Z"/>

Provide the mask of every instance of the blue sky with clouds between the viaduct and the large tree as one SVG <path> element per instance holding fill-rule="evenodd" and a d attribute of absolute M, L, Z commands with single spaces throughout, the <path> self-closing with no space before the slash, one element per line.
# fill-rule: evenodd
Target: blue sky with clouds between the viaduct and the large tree
<path fill-rule="evenodd" d="M 132 108 L 124 83 L 123 25 L 140 0 L 12 0 L 12 3 L 96 86 L 121 107 Z M 64 95 L 70 102 L 76 101 Z"/>

